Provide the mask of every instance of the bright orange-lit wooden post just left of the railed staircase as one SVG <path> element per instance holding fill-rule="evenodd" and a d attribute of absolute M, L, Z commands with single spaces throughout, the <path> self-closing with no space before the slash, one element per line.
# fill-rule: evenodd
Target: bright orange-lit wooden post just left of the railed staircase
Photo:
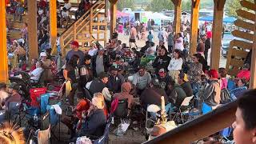
<path fill-rule="evenodd" d="M 56 1 L 50 1 L 50 47 L 53 50 L 52 54 L 56 54 L 57 46 L 57 4 Z"/>

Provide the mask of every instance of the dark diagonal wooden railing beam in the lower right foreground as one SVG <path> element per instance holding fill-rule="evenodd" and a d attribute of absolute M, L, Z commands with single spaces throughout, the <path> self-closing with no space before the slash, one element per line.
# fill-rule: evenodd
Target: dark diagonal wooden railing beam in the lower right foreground
<path fill-rule="evenodd" d="M 231 102 L 144 143 L 189 144 L 206 138 L 231 126 L 235 119 L 236 109 L 237 102 Z"/>

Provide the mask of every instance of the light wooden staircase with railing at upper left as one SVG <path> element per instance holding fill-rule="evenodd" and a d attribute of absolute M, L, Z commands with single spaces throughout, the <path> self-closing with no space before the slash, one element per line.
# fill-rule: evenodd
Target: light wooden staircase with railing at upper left
<path fill-rule="evenodd" d="M 94 1 L 90 10 L 74 22 L 60 37 L 62 54 L 66 54 L 70 42 L 76 40 L 82 49 L 91 42 L 100 42 L 106 46 L 106 2 L 105 0 Z"/>

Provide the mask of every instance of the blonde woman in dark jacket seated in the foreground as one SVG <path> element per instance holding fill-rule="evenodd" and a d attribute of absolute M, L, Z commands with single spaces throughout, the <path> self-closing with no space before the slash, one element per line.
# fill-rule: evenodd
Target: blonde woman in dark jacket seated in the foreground
<path fill-rule="evenodd" d="M 101 98 L 93 98 L 85 122 L 82 124 L 82 129 L 78 134 L 81 136 L 93 135 L 100 137 L 104 133 L 106 126 L 106 116 L 104 114 L 104 102 Z"/>

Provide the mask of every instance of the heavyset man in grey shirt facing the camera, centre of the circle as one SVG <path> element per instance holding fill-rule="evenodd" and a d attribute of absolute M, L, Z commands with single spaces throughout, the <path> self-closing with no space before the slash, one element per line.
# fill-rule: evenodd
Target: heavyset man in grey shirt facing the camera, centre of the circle
<path fill-rule="evenodd" d="M 138 94 L 142 94 L 142 91 L 146 89 L 151 82 L 151 75 L 146 71 L 145 66 L 138 66 L 138 72 L 134 74 L 133 85 L 136 86 Z"/>

